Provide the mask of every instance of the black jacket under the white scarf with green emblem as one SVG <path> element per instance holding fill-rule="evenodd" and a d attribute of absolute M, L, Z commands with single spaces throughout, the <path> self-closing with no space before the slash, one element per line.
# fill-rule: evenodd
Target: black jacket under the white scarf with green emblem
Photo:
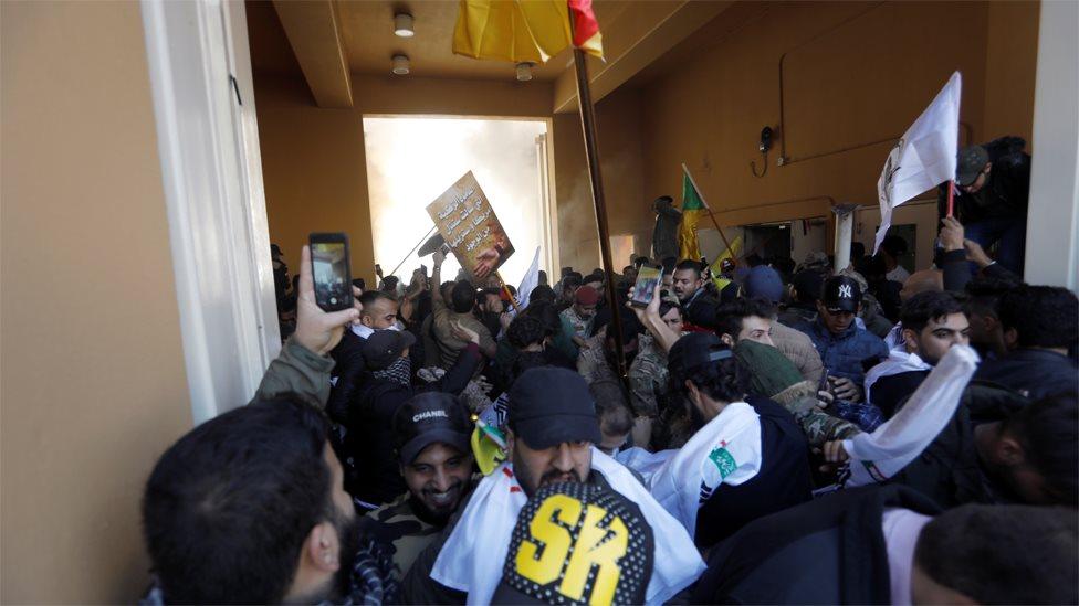
<path fill-rule="evenodd" d="M 747 523 L 808 501 L 813 492 L 809 443 L 786 408 L 758 396 L 746 403 L 761 417 L 762 468 L 738 486 L 720 485 L 696 514 L 694 542 L 710 547 Z"/>

